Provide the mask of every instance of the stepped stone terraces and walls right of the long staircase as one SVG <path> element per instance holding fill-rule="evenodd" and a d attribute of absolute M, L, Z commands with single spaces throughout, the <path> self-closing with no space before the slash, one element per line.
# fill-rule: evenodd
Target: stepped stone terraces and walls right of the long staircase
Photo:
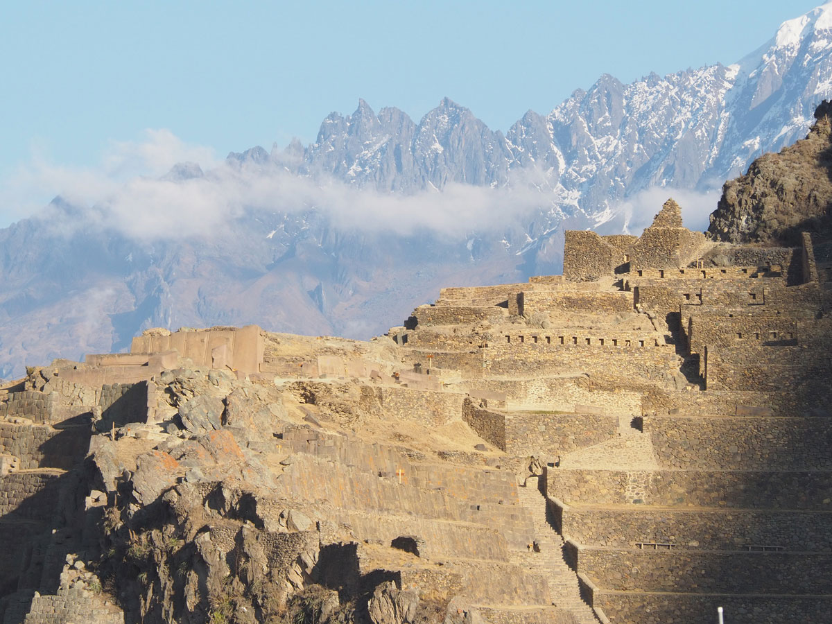
<path fill-rule="evenodd" d="M 711 249 L 675 209 L 643 240 L 567 233 L 565 280 L 445 289 L 391 336 L 502 398 L 467 422 L 549 462 L 552 523 L 613 622 L 825 621 L 832 245 Z"/>

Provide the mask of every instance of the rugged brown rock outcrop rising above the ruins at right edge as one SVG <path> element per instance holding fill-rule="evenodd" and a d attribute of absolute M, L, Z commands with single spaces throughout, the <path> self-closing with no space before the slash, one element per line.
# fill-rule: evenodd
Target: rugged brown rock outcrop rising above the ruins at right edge
<path fill-rule="evenodd" d="M 800 244 L 800 231 L 830 230 L 832 210 L 832 102 L 815 111 L 803 141 L 751 163 L 745 176 L 726 182 L 708 235 L 734 243 Z"/>

